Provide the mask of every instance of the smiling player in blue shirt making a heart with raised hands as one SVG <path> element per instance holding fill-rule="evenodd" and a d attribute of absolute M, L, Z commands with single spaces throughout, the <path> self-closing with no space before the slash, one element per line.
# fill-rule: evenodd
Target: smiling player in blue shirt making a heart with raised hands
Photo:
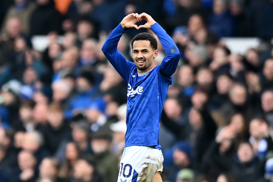
<path fill-rule="evenodd" d="M 146 24 L 136 23 L 146 20 Z M 122 34 L 128 28 L 151 29 L 160 40 L 166 57 L 155 65 L 157 41 L 149 33 L 137 34 L 132 42 L 134 63 L 127 61 L 117 50 Z M 163 156 L 158 142 L 159 121 L 168 86 L 176 70 L 180 53 L 166 31 L 148 14 L 125 16 L 111 32 L 102 51 L 109 62 L 128 83 L 127 131 L 125 149 L 120 162 L 118 182 L 162 182 Z"/>

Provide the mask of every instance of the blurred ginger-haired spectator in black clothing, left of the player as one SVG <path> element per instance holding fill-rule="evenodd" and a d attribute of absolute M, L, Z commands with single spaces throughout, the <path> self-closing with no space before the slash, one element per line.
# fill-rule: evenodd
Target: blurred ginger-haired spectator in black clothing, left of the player
<path fill-rule="evenodd" d="M 71 133 L 69 122 L 65 120 L 63 108 L 59 103 L 51 103 L 48 106 L 48 123 L 43 128 L 45 147 L 54 154 L 59 144 Z"/>

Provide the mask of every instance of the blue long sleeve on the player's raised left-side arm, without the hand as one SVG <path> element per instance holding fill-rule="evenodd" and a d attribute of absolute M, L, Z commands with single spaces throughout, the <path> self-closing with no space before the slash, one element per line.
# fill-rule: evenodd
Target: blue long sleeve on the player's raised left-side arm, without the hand
<path fill-rule="evenodd" d="M 108 59 L 108 61 L 117 70 L 119 75 L 128 83 L 131 67 L 134 63 L 125 59 L 125 57 L 117 50 L 117 44 L 122 34 L 126 31 L 119 24 L 108 36 L 104 45 L 102 46 L 102 52 Z"/>

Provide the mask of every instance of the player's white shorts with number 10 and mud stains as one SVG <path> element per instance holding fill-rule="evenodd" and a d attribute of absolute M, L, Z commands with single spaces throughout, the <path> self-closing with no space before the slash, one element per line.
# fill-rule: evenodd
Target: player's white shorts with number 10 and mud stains
<path fill-rule="evenodd" d="M 117 182 L 150 182 L 163 170 L 162 151 L 148 146 L 125 147 Z"/>

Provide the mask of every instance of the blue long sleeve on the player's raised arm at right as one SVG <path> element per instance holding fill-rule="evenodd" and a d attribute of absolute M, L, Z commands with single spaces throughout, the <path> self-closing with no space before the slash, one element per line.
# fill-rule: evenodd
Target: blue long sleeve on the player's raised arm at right
<path fill-rule="evenodd" d="M 163 76 L 169 77 L 173 75 L 177 68 L 180 52 L 171 37 L 158 23 L 153 24 L 151 30 L 158 36 L 166 53 L 166 57 L 164 57 L 160 65 L 160 73 Z"/>

